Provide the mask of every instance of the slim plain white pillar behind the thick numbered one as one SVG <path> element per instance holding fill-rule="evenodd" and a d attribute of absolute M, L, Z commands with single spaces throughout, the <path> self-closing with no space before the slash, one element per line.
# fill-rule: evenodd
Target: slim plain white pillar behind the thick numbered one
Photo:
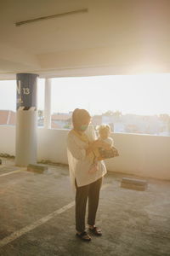
<path fill-rule="evenodd" d="M 51 79 L 45 79 L 44 128 L 51 128 Z"/>

